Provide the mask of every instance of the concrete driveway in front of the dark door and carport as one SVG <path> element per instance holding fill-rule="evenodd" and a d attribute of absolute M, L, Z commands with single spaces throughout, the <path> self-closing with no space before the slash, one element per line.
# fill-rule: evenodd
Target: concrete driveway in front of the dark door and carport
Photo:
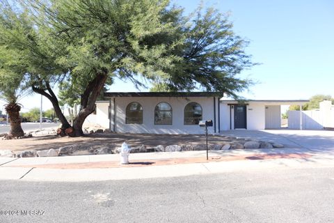
<path fill-rule="evenodd" d="M 287 148 L 301 148 L 314 152 L 334 153 L 334 131 L 327 130 L 231 130 L 223 135 L 274 141 Z"/>

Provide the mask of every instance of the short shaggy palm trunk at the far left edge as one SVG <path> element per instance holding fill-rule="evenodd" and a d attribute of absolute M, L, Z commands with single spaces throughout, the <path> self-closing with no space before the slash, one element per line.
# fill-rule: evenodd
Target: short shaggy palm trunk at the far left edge
<path fill-rule="evenodd" d="M 21 118 L 19 117 L 19 111 L 21 107 L 16 102 L 10 102 L 6 105 L 5 110 L 10 118 L 10 130 L 8 135 L 12 137 L 23 137 L 24 131 L 21 126 Z"/>

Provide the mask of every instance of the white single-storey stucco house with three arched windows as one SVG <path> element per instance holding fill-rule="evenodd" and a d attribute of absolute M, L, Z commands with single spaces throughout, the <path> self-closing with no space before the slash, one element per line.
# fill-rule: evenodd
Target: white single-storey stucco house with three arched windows
<path fill-rule="evenodd" d="M 223 130 L 280 128 L 280 105 L 304 105 L 308 100 L 225 100 L 218 92 L 130 92 L 104 94 L 85 124 L 113 132 L 202 134 L 199 121 L 212 120 L 209 133 Z"/>

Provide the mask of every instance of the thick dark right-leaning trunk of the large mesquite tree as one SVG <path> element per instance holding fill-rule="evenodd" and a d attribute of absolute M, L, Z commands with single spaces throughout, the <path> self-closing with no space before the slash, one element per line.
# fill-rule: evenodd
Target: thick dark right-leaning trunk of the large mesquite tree
<path fill-rule="evenodd" d="M 82 125 L 84 125 L 87 116 L 92 114 L 96 109 L 95 102 L 106 83 L 107 77 L 108 72 L 104 70 L 103 72 L 98 73 L 96 77 L 89 82 L 84 94 L 81 95 L 80 111 L 77 117 L 74 118 L 72 126 L 73 131 L 69 134 L 70 137 L 81 137 L 84 135 Z"/>

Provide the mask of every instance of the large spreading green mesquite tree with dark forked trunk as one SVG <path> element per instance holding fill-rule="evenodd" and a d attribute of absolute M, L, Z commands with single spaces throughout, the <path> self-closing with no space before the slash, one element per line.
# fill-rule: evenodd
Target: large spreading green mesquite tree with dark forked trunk
<path fill-rule="evenodd" d="M 199 87 L 231 95 L 250 84 L 236 77 L 253 65 L 244 53 L 245 42 L 232 32 L 227 17 L 215 10 L 203 13 L 199 8 L 184 17 L 182 8 L 169 6 L 168 0 L 19 2 L 17 20 L 31 25 L 28 34 L 17 30 L 16 36 L 24 35 L 13 38 L 17 45 L 11 47 L 28 52 L 29 84 L 49 98 L 63 128 L 70 124 L 52 84 L 61 82 L 61 98 L 79 98 L 71 136 L 84 134 L 86 117 L 94 111 L 102 89 L 115 78 L 142 85 L 137 78 L 141 77 L 159 90 Z"/>

